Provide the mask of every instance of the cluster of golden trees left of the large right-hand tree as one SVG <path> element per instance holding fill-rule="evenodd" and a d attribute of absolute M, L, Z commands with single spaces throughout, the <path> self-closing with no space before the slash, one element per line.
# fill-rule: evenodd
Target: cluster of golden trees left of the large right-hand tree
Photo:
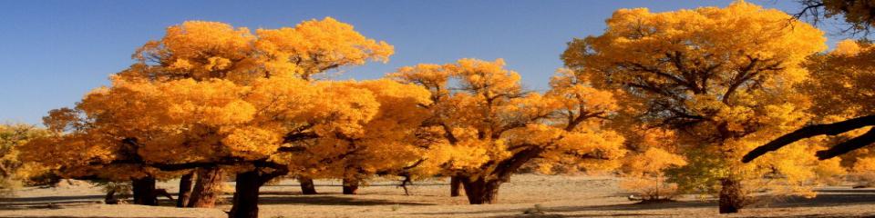
<path fill-rule="evenodd" d="M 458 178 L 470 203 L 493 203 L 532 159 L 616 165 L 625 152 L 602 128 L 618 109 L 612 94 L 575 74 L 558 74 L 545 94 L 523 89 L 500 59 L 368 81 L 324 76 L 392 53 L 332 18 L 254 34 L 171 26 L 110 86 L 49 112 L 47 135 L 21 146 L 21 159 L 64 177 L 130 181 L 134 202 L 152 205 L 156 180 L 181 177 L 179 205 L 211 206 L 232 174 L 230 215 L 255 217 L 259 188 L 285 175 L 341 178 L 355 193 L 372 176 L 440 174 Z"/>

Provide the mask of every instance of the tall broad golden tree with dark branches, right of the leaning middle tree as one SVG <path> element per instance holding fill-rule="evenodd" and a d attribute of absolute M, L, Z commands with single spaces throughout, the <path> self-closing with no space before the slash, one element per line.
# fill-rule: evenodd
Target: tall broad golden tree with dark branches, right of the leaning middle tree
<path fill-rule="evenodd" d="M 621 9 L 604 34 L 569 43 L 562 60 L 599 87 L 622 88 L 643 124 L 681 134 L 688 164 L 675 180 L 687 190 L 717 193 L 720 213 L 736 213 L 746 203 L 743 183 L 765 173 L 800 175 L 786 182 L 803 183 L 801 175 L 812 174 L 797 173 L 799 167 L 816 164 L 737 161 L 808 119 L 808 99 L 791 87 L 807 77 L 799 64 L 825 49 L 825 38 L 791 18 L 744 2 L 665 13 Z"/>

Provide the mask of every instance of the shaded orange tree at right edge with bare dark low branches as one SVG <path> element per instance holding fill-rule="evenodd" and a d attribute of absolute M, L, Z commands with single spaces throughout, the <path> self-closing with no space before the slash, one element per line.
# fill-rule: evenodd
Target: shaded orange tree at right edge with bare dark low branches
<path fill-rule="evenodd" d="M 873 79 L 875 55 L 872 45 L 866 42 L 842 41 L 829 54 L 818 54 L 809 58 L 810 79 L 798 88 L 807 92 L 815 101 L 814 114 L 824 119 L 819 124 L 811 124 L 790 134 L 757 147 L 744 156 L 749 162 L 767 152 L 792 144 L 802 139 L 818 135 L 838 135 L 838 142 L 829 149 L 818 151 L 820 160 L 860 149 L 875 142 L 875 132 L 863 127 L 875 125 L 875 98 Z M 826 123 L 826 124 L 824 124 Z"/>

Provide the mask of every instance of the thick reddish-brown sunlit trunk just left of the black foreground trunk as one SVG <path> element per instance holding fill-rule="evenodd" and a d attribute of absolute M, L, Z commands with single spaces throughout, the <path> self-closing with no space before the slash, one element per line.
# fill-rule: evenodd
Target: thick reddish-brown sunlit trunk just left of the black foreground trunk
<path fill-rule="evenodd" d="M 212 208 L 221 196 L 221 169 L 219 167 L 199 168 L 198 179 L 191 191 L 189 207 Z"/>

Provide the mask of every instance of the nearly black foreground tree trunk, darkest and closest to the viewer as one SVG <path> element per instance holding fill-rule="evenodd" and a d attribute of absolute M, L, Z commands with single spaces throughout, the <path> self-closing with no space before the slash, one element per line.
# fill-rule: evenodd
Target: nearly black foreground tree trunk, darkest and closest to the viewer
<path fill-rule="evenodd" d="M 234 200 L 230 218 L 258 217 L 258 189 L 261 188 L 261 176 L 258 169 L 237 173 L 237 184 L 234 185 Z"/>

